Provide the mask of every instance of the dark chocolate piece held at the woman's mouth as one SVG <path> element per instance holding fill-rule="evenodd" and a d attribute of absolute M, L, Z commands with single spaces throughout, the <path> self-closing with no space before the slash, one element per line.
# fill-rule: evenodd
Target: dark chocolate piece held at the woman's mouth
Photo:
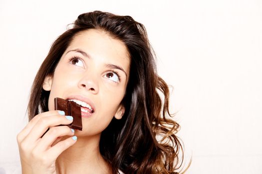
<path fill-rule="evenodd" d="M 79 104 L 56 97 L 54 98 L 54 110 L 62 110 L 65 112 L 65 115 L 70 115 L 74 118 L 73 122 L 67 125 L 68 127 L 82 130 L 81 107 Z"/>

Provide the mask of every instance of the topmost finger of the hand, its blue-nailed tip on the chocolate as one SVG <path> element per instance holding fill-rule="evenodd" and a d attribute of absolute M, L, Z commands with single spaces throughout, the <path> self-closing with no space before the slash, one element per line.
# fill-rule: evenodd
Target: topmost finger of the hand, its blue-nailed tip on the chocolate
<path fill-rule="evenodd" d="M 33 128 L 33 126 L 37 123 L 37 121 L 42 118 L 42 117 L 47 117 L 47 116 L 53 116 L 53 115 L 64 115 L 64 111 L 59 111 L 59 110 L 52 110 L 52 111 L 47 111 L 40 113 L 36 116 L 34 116 L 29 123 L 19 132 L 16 136 L 17 142 L 21 142 L 30 132 L 30 130 Z"/>

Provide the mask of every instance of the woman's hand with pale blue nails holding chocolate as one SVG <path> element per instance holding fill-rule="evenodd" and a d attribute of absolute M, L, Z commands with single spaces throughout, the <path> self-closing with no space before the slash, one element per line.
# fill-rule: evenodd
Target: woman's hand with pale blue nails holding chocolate
<path fill-rule="evenodd" d="M 72 121 L 63 111 L 53 110 L 36 115 L 26 125 L 17 135 L 23 174 L 56 174 L 57 157 L 76 142 L 73 129 L 58 125 Z M 63 136 L 69 138 L 60 141 Z"/>

